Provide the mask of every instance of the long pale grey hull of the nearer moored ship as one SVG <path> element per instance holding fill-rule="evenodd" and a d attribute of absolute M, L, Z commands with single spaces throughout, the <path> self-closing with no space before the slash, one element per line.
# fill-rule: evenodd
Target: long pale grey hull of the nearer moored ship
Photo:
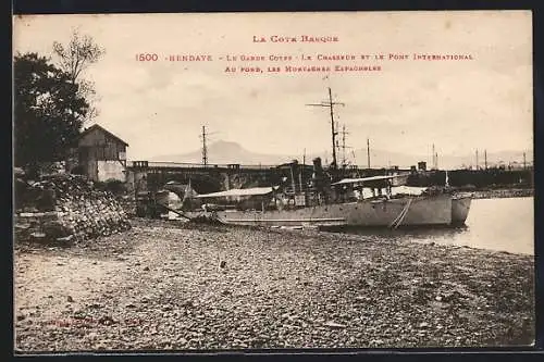
<path fill-rule="evenodd" d="M 282 211 L 218 211 L 225 224 L 262 226 L 401 227 L 452 224 L 452 198 L 446 195 L 363 200 Z"/>

